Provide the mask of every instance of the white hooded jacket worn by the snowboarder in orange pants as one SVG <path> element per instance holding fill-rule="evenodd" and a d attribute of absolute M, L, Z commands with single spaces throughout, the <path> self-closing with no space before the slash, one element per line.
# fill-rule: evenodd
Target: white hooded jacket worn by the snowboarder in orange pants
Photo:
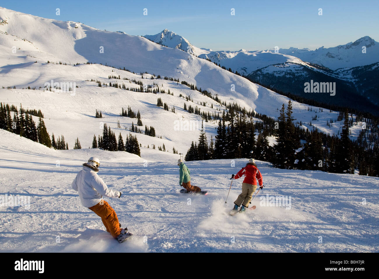
<path fill-rule="evenodd" d="M 103 195 L 110 198 L 120 196 L 119 191 L 108 189 L 99 175 L 86 166 L 83 166 L 83 170 L 77 174 L 71 187 L 79 192 L 80 202 L 85 207 L 97 205 L 102 200 Z"/>

